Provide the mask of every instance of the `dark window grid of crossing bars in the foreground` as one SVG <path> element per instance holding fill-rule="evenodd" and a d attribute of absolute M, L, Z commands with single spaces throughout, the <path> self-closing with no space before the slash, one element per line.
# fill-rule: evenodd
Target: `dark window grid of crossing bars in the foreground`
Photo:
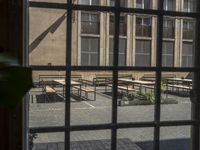
<path fill-rule="evenodd" d="M 198 10 L 199 8 L 199 2 L 197 1 L 197 6 Z M 65 116 L 67 119 L 65 119 L 65 126 L 62 127 L 38 127 L 38 128 L 29 128 L 27 131 L 27 125 L 26 125 L 26 133 L 51 133 L 51 132 L 59 132 L 63 131 L 65 132 L 65 150 L 70 149 L 70 132 L 71 131 L 81 131 L 81 130 L 103 130 L 103 129 L 110 129 L 112 131 L 111 133 L 111 149 L 115 150 L 117 146 L 117 130 L 122 129 L 122 128 L 137 128 L 137 127 L 153 127 L 154 128 L 154 150 L 159 150 L 159 144 L 160 144 L 160 128 L 161 127 L 170 127 L 170 126 L 185 126 L 189 125 L 192 126 L 192 150 L 198 150 L 199 149 L 199 125 L 200 125 L 200 115 L 199 113 L 196 113 L 199 111 L 199 104 L 198 102 L 193 102 L 193 111 L 194 111 L 194 116 L 192 120 L 175 120 L 175 121 L 161 121 L 160 120 L 160 97 L 161 97 L 161 73 L 166 72 L 166 71 L 175 71 L 175 72 L 194 72 L 194 81 L 198 81 L 198 75 L 200 72 L 200 62 L 196 61 L 195 66 L 192 68 L 168 68 L 168 67 L 162 67 L 161 62 L 162 62 L 162 30 L 163 30 L 163 16 L 168 15 L 168 16 L 180 16 L 180 17 L 193 17 L 197 20 L 196 23 L 196 32 L 200 31 L 200 18 L 199 18 L 199 11 L 196 13 L 182 13 L 182 12 L 166 12 L 163 10 L 163 0 L 158 2 L 158 10 L 144 10 L 144 11 L 139 11 L 136 9 L 129 9 L 129 8 L 120 8 L 120 1 L 116 0 L 115 7 L 103 7 L 103 6 L 80 6 L 72 3 L 72 0 L 68 0 L 68 4 L 58 4 L 58 3 L 48 3 L 48 2 L 29 2 L 26 5 L 26 8 L 29 7 L 40 7 L 40 8 L 53 8 L 53 9 L 66 9 L 67 10 L 67 47 L 66 47 L 66 66 L 34 66 L 31 65 L 30 67 L 37 71 L 37 70 L 63 70 L 67 74 L 71 75 L 71 71 L 73 70 L 110 70 L 113 72 L 113 99 L 112 99 L 112 122 L 110 124 L 98 124 L 98 125 L 78 125 L 78 126 L 71 126 L 70 125 L 70 101 L 65 102 Z M 115 34 L 114 34 L 114 65 L 113 67 L 92 67 L 92 66 L 71 66 L 71 35 L 72 35 L 72 12 L 74 10 L 97 10 L 97 11 L 107 11 L 107 12 L 114 12 L 115 13 Z M 115 9 L 116 8 L 116 9 Z M 119 67 L 118 66 L 118 41 L 119 41 L 119 16 L 120 12 L 132 12 L 132 13 L 145 13 L 145 14 L 151 14 L 151 15 L 156 15 L 158 18 L 158 32 L 157 32 L 157 52 L 156 52 L 156 67 Z M 25 11 L 25 15 L 28 14 L 27 11 Z M 28 20 L 26 20 L 26 23 Z M 28 33 L 28 27 L 26 26 L 26 33 Z M 26 36 L 25 41 L 28 39 L 28 36 Z M 196 36 L 196 41 L 200 42 L 200 36 Z M 197 42 L 195 42 L 197 43 Z M 28 42 L 26 41 L 26 46 L 25 46 L 25 51 L 27 53 L 28 51 Z M 200 53 L 197 51 L 197 49 L 200 48 L 199 44 L 195 44 L 195 52 L 196 56 L 195 58 L 197 59 L 198 56 L 200 56 Z M 25 59 L 27 59 L 28 54 L 25 55 Z M 28 62 L 26 62 L 28 65 Z M 134 122 L 129 122 L 129 123 L 118 123 L 117 122 L 117 79 L 118 79 L 118 72 L 121 70 L 127 70 L 127 71 L 155 71 L 156 72 L 156 102 L 155 102 L 155 120 L 153 122 L 139 122 L 139 123 L 134 123 Z M 71 76 L 66 78 L 66 99 L 70 99 L 70 81 L 71 81 Z M 68 85 L 68 86 L 67 86 Z M 197 88 L 197 91 L 199 90 L 199 86 L 197 84 L 194 84 L 194 87 Z M 199 97 L 199 95 L 197 95 Z M 28 107 L 28 106 L 27 106 Z M 26 107 L 26 109 L 27 109 Z M 26 136 L 27 137 L 27 136 Z M 28 139 L 26 139 L 28 141 Z M 28 142 L 27 142 L 28 143 Z"/>

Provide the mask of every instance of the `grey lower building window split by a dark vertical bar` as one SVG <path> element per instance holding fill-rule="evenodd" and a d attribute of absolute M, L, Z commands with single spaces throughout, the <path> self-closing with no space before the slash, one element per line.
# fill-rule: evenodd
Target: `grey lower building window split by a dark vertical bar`
<path fill-rule="evenodd" d="M 109 39 L 109 65 L 113 65 L 113 38 Z M 126 65 L 126 38 L 119 38 L 119 66 L 125 66 Z"/>

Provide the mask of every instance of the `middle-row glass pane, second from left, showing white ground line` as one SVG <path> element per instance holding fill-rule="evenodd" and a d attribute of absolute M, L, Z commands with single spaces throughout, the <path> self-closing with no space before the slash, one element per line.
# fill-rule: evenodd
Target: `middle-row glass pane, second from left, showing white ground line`
<path fill-rule="evenodd" d="M 81 78 L 76 81 L 79 84 L 72 86 L 71 125 L 110 123 L 112 95 L 106 93 L 106 85 L 112 79 L 112 72 L 77 71 L 73 74 Z"/>

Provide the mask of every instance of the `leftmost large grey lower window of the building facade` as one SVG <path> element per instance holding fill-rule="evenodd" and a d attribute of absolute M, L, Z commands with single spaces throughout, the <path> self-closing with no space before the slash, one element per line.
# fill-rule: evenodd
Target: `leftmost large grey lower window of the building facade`
<path fill-rule="evenodd" d="M 99 64 L 99 38 L 81 38 L 81 65 L 97 66 Z"/>

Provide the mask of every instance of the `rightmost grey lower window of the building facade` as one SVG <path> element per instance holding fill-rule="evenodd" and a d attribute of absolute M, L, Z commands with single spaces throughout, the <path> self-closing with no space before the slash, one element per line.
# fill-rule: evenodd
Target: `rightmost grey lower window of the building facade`
<path fill-rule="evenodd" d="M 183 42 L 182 45 L 182 67 L 193 66 L 193 43 Z"/>

